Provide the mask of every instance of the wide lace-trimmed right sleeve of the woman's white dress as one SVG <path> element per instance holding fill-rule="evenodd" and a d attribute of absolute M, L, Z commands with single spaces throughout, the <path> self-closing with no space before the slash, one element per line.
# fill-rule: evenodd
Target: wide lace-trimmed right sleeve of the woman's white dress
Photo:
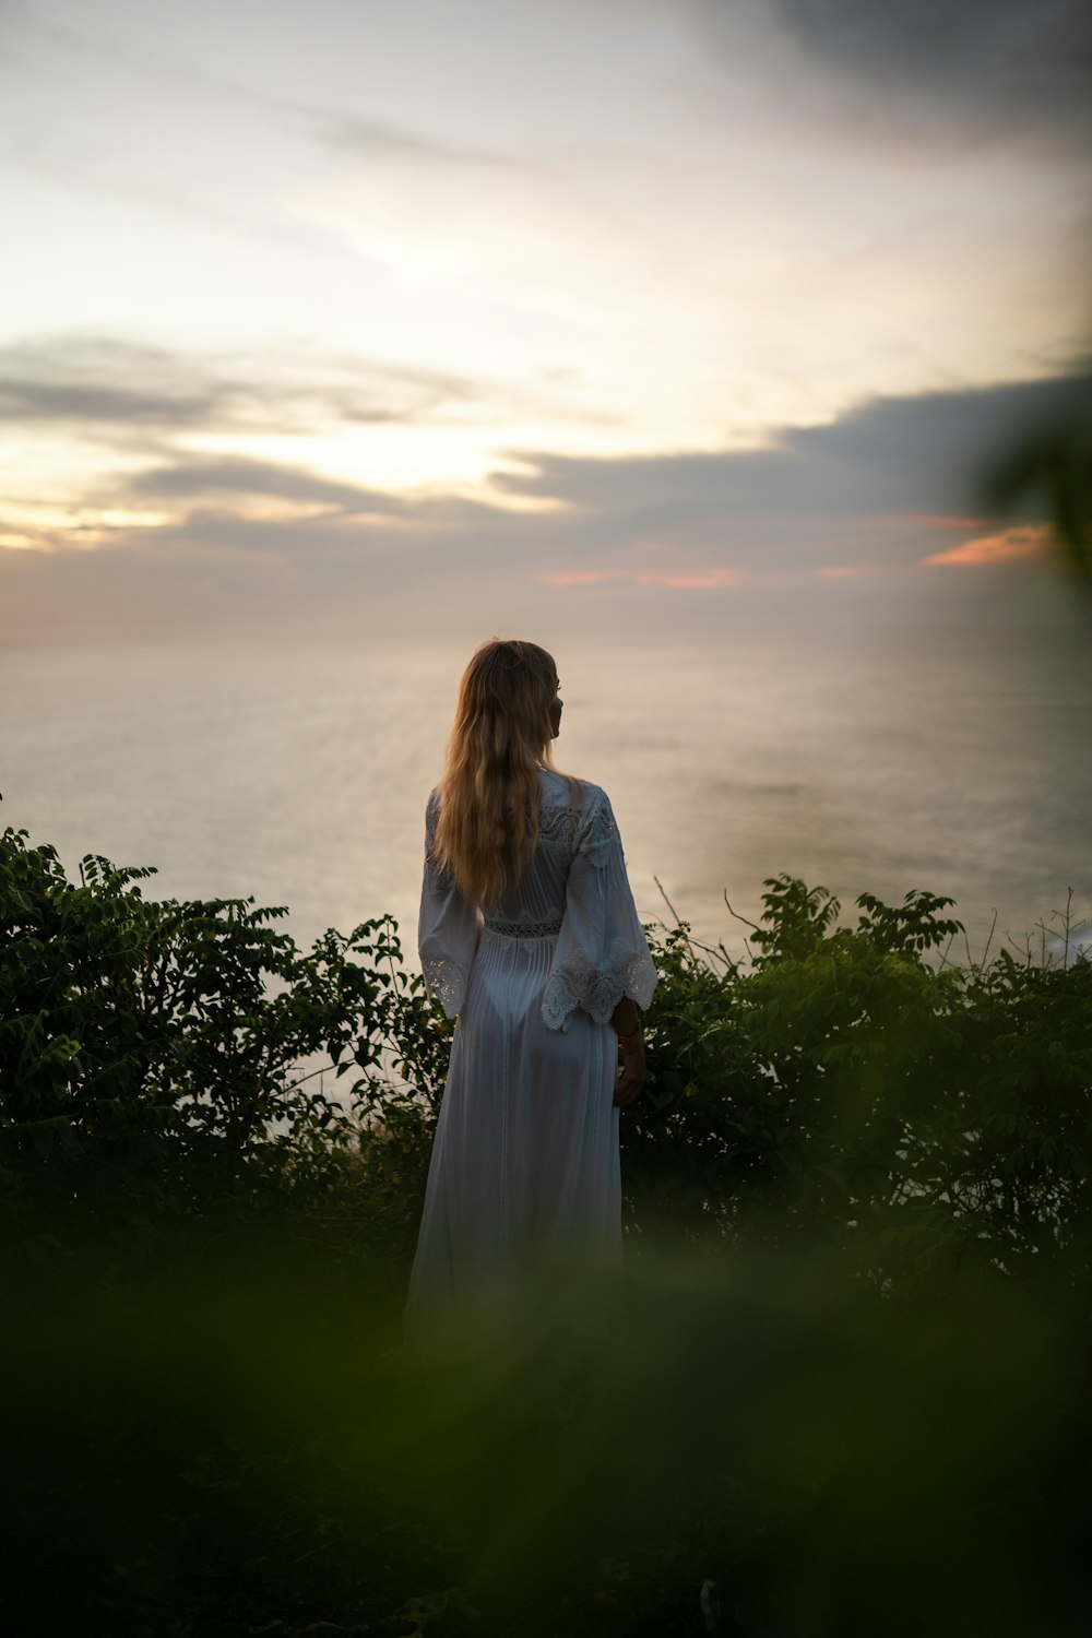
<path fill-rule="evenodd" d="M 609 1024 L 624 996 L 647 1007 L 657 978 L 611 803 L 589 786 L 542 1019 L 548 1029 L 565 1030 L 581 1007 L 596 1024 Z"/>

